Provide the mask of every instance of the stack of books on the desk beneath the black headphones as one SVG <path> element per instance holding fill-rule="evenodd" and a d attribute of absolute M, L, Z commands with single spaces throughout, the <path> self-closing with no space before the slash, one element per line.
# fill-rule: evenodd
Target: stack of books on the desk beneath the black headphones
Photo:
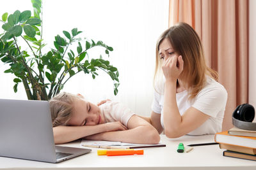
<path fill-rule="evenodd" d="M 256 131 L 233 127 L 229 131 L 216 133 L 214 139 L 220 143 L 221 149 L 225 149 L 223 156 L 256 160 Z"/>

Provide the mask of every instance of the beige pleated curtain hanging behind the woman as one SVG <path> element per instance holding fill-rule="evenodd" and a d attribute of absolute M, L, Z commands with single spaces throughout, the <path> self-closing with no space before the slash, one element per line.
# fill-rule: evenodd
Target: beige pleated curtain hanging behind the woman
<path fill-rule="evenodd" d="M 169 26 L 177 22 L 196 30 L 207 65 L 227 89 L 222 129 L 227 131 L 236 106 L 248 103 L 248 0 L 170 0 Z"/>

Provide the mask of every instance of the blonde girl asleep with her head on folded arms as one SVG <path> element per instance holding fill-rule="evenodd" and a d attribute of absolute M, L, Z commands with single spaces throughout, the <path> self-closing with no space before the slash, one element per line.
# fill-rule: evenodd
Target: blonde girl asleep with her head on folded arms
<path fill-rule="evenodd" d="M 62 92 L 50 101 L 56 144 L 79 138 L 125 143 L 159 143 L 156 129 L 120 103 L 96 106 L 78 94 Z"/>

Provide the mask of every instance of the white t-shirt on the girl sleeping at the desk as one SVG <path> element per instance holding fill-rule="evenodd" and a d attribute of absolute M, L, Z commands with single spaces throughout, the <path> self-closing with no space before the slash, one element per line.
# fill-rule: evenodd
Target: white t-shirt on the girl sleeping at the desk
<path fill-rule="evenodd" d="M 129 108 L 116 101 L 107 101 L 99 107 L 106 123 L 120 121 L 122 124 L 127 126 L 129 119 L 132 115 L 135 115 L 135 113 L 132 113 Z"/>

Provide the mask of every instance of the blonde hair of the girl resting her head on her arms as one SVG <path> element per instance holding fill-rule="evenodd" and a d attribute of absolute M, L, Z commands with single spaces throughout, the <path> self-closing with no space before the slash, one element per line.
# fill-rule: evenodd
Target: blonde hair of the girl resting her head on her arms
<path fill-rule="evenodd" d="M 49 100 L 52 116 L 52 127 L 67 125 L 72 116 L 74 99 L 79 98 L 74 94 L 61 92 Z"/>

